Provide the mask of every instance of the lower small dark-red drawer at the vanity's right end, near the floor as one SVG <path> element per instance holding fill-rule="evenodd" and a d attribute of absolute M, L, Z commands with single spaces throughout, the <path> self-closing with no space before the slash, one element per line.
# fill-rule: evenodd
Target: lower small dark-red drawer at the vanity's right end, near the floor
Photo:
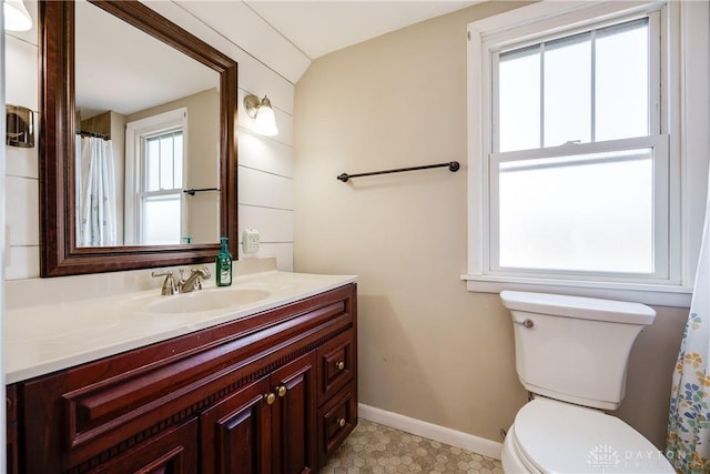
<path fill-rule="evenodd" d="M 357 425 L 357 393 L 352 382 L 318 411 L 318 465 L 338 448 Z"/>

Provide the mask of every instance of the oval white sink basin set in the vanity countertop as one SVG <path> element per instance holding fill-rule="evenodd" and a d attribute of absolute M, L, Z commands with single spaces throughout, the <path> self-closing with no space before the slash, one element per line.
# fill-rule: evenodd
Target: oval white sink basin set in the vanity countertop
<path fill-rule="evenodd" d="M 162 296 L 148 306 L 153 313 L 197 313 L 204 311 L 226 310 L 244 304 L 256 303 L 271 295 L 265 290 L 253 289 L 211 289 L 191 293 Z"/>

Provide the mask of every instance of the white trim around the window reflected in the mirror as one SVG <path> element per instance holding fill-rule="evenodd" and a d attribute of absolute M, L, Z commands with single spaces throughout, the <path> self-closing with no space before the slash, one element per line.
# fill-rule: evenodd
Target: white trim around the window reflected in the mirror
<path fill-rule="evenodd" d="M 181 128 L 183 132 L 183 177 L 185 177 L 186 152 L 187 152 L 187 109 L 180 108 L 168 112 L 135 120 L 125 124 L 125 228 L 124 241 L 126 245 L 139 245 L 142 235 L 142 221 L 140 211 L 140 190 L 143 165 L 141 157 L 145 137 L 153 135 L 161 131 Z M 172 190 L 171 190 L 172 193 Z M 180 199 L 181 209 L 184 213 L 184 195 Z M 184 224 L 184 215 L 181 215 L 181 225 Z"/>

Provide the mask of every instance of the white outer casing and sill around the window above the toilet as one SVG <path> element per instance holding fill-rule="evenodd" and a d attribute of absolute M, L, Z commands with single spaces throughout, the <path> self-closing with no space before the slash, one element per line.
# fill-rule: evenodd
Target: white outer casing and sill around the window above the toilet
<path fill-rule="evenodd" d="M 710 155 L 710 47 L 708 4 L 670 1 L 557 2 L 542 1 L 469 23 L 468 26 L 468 273 L 462 275 L 474 292 L 505 289 L 561 292 L 623 299 L 648 304 L 689 306 L 708 184 Z M 693 2 L 694 3 L 694 2 Z M 661 123 L 668 135 L 668 276 L 646 282 L 629 279 L 580 279 L 555 274 L 498 272 L 490 266 L 488 157 L 491 153 L 493 51 L 507 44 L 627 18 L 662 8 Z M 704 39 L 704 41 L 703 41 Z M 669 113 L 667 112 L 669 111 Z M 651 123 L 652 124 L 652 123 Z M 579 145 L 576 145 L 579 147 Z"/>

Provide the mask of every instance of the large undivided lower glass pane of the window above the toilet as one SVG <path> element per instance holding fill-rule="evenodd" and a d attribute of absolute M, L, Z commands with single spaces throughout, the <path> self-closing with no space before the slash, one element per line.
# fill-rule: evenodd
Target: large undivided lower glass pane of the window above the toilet
<path fill-rule="evenodd" d="M 499 165 L 501 268 L 653 272 L 652 149 Z"/>

